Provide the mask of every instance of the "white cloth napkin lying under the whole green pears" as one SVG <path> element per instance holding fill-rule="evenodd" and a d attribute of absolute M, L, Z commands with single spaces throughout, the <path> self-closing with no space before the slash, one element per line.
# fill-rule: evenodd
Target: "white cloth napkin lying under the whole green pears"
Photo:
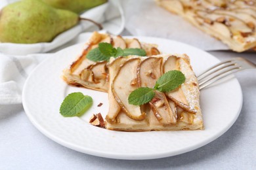
<path fill-rule="evenodd" d="M 3 0 L 0 1 L 0 8 L 4 6 L 3 2 Z M 7 4 L 7 1 L 5 3 Z M 103 32 L 108 31 L 118 35 L 123 31 L 124 16 L 119 1 L 109 1 L 108 4 L 88 10 L 83 15 L 102 22 Z M 93 30 L 95 27 L 83 27 L 79 24 L 49 43 L 29 45 L 0 43 L 0 113 L 3 111 L 1 107 L 5 105 L 22 103 L 22 88 L 26 78 L 41 61 L 54 55 L 54 53 L 42 54 L 42 52 L 49 52 L 49 50 L 56 52 L 66 46 L 86 42 L 91 33 L 81 32 Z M 67 38 L 68 41 L 65 40 Z M 33 54 L 37 52 L 41 53 Z"/>

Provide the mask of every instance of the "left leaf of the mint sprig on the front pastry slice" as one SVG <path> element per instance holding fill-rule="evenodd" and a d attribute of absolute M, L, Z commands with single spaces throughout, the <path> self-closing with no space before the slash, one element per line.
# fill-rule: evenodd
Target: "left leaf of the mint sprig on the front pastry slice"
<path fill-rule="evenodd" d="M 143 105 L 151 101 L 154 96 L 155 93 L 152 88 L 137 88 L 130 93 L 128 101 L 130 105 Z"/>

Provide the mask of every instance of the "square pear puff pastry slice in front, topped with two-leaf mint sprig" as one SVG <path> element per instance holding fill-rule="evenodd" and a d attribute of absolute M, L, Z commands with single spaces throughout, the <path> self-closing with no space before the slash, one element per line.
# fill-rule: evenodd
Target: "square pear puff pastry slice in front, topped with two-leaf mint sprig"
<path fill-rule="evenodd" d="M 120 66 L 121 65 L 121 66 Z M 139 87 L 153 88 L 156 80 L 171 70 L 181 71 L 186 80 L 172 92 L 156 95 L 149 103 L 129 105 L 128 97 Z M 203 129 L 198 80 L 186 54 L 152 57 L 111 58 L 109 65 L 110 108 L 106 128 L 119 131 Z"/>

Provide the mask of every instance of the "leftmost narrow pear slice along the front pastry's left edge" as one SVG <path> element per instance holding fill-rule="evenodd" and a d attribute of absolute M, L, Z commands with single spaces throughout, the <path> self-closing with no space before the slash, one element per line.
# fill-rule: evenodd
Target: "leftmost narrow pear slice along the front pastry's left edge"
<path fill-rule="evenodd" d="M 109 76 L 110 76 L 110 83 L 113 82 L 114 77 L 117 75 L 117 72 L 119 71 L 119 67 L 125 63 L 125 58 L 110 58 L 110 65 L 109 65 Z M 112 84 L 110 84 L 110 87 Z M 106 116 L 106 121 L 110 124 L 113 124 L 116 122 L 116 116 L 119 113 L 121 107 L 119 107 L 116 99 L 114 98 L 114 95 L 112 93 L 112 90 L 108 90 L 108 101 L 110 103 L 110 107 L 108 109 L 108 114 Z"/>

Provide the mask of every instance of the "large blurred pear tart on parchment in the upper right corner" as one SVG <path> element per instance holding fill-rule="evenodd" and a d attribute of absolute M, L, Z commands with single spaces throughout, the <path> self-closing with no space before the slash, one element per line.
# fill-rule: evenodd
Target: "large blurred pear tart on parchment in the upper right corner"
<path fill-rule="evenodd" d="M 236 52 L 256 48 L 256 1 L 156 0 Z"/>

